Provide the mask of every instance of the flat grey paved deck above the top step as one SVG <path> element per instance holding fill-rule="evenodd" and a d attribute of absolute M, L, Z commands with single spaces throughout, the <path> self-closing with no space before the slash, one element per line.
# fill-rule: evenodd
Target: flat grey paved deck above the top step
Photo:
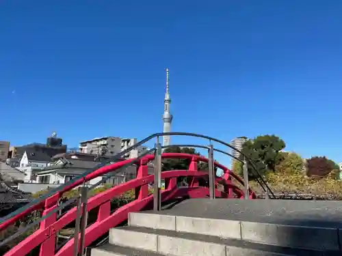
<path fill-rule="evenodd" d="M 284 225 L 342 227 L 342 203 L 339 201 L 187 199 L 158 214 Z"/>

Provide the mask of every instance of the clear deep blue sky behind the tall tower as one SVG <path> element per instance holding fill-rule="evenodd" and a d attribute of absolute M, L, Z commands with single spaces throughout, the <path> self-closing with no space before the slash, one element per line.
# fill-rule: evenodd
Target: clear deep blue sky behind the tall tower
<path fill-rule="evenodd" d="M 0 139 L 277 134 L 342 161 L 342 1 L 1 1 Z M 176 139 L 176 142 L 187 143 Z"/>

